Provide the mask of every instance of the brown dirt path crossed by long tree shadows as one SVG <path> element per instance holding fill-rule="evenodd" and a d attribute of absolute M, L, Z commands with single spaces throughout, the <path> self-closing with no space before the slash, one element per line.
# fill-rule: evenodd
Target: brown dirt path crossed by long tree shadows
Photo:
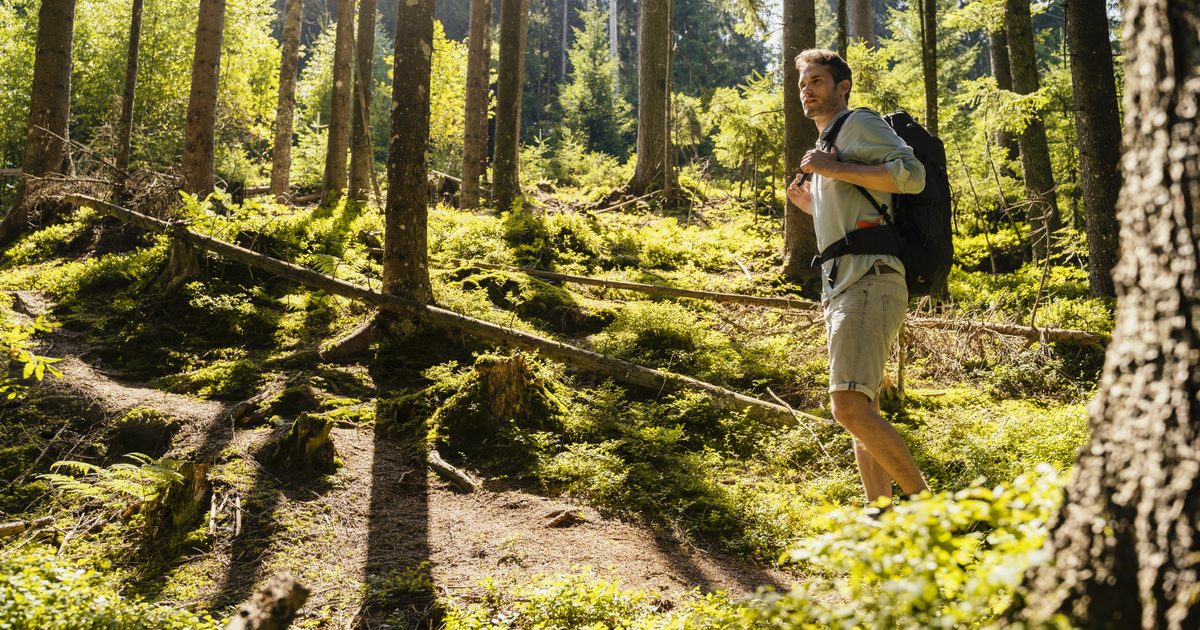
<path fill-rule="evenodd" d="M 29 314 L 49 307 L 36 294 L 23 294 L 19 302 Z M 742 595 L 791 583 L 784 571 L 710 553 L 568 499 L 492 486 L 458 493 L 426 470 L 420 454 L 373 428 L 335 430 L 343 466 L 334 475 L 272 473 L 253 457 L 270 431 L 234 431 L 224 421 L 230 406 L 122 382 L 80 359 L 85 348 L 61 331 L 41 352 L 64 359 L 64 378 L 54 385 L 59 395 L 86 397 L 107 414 L 138 406 L 169 414 L 182 424 L 172 454 L 216 462 L 220 510 L 211 548 L 178 558 L 156 578 L 151 596 L 223 607 L 288 571 L 313 592 L 304 613 L 311 625 L 348 628 L 377 626 L 406 606 L 410 618 L 420 617 L 413 588 L 396 586 L 419 575 L 432 578 L 437 594 L 467 599 L 482 592 L 487 576 L 524 582 L 584 570 L 666 600 L 694 588 Z M 563 510 L 581 518 L 552 527 Z M 241 529 L 234 535 L 236 511 Z"/>

